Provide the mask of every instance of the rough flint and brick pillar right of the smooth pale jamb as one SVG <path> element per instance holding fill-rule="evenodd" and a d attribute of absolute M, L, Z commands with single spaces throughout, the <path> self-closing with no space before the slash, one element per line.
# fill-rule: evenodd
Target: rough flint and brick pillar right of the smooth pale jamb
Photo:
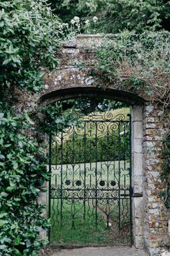
<path fill-rule="evenodd" d="M 160 193 L 165 184 L 160 179 L 162 139 L 166 123 L 161 121 L 161 108 L 145 106 L 143 113 L 143 175 L 145 184 L 145 247 L 150 255 L 160 255 L 161 247 L 168 244 L 168 216 Z M 168 121 L 168 120 L 167 120 Z"/>

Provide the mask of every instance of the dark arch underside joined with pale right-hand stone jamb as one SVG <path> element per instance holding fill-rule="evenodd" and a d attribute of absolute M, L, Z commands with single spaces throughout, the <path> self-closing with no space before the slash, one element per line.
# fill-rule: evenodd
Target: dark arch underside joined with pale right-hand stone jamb
<path fill-rule="evenodd" d="M 68 88 L 67 88 L 68 87 Z M 51 90 L 50 90 L 51 88 Z M 71 98 L 80 98 L 83 96 L 89 97 L 101 97 L 108 98 L 114 101 L 121 101 L 132 106 L 132 179 L 134 192 L 141 195 L 138 198 L 133 199 L 133 240 L 136 248 L 143 248 L 143 223 L 144 223 L 144 211 L 143 211 L 143 106 L 145 105 L 145 99 L 141 98 L 135 93 L 130 93 L 125 90 L 117 90 L 114 88 L 97 88 L 94 86 L 79 86 L 74 85 L 69 87 L 68 85 L 60 86 L 56 84 L 53 86 L 53 82 L 50 83 L 48 90 L 44 90 L 38 100 L 38 104 L 48 105 L 55 101 L 68 100 Z M 139 227 L 140 226 L 140 230 Z"/>

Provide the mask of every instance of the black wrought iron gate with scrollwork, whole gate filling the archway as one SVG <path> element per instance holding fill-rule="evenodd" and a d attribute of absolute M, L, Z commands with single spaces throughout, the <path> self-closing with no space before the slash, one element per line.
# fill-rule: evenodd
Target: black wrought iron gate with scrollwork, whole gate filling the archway
<path fill-rule="evenodd" d="M 51 244 L 132 244 L 130 124 L 93 113 L 51 132 Z"/>

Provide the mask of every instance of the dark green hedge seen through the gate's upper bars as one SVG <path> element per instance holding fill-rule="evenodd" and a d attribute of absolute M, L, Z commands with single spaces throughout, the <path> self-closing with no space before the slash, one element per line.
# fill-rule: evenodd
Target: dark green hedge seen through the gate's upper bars
<path fill-rule="evenodd" d="M 57 144 L 52 148 L 52 163 L 94 163 L 128 159 L 128 137 L 129 131 L 120 137 L 117 132 L 115 135 L 104 135 L 98 137 L 97 141 L 95 137 L 85 138 L 73 134 L 68 141 L 63 142 L 63 145 Z"/>

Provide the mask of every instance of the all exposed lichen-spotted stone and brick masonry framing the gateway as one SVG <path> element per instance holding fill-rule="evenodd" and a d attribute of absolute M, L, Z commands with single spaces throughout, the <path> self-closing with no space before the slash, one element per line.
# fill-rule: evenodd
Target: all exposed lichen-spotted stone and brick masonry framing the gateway
<path fill-rule="evenodd" d="M 161 106 L 151 106 L 147 97 L 129 92 L 122 85 L 104 84 L 102 77 L 91 77 L 91 67 L 97 63 L 96 48 L 102 45 L 100 35 L 79 35 L 76 40 L 63 42 L 58 49 L 58 69 L 47 72 L 40 95 L 15 92 L 19 111 L 32 111 L 36 104 L 47 105 L 54 101 L 77 98 L 82 95 L 110 98 L 132 106 L 132 182 L 133 236 L 136 248 L 145 247 L 150 255 L 162 255 L 170 247 L 170 213 L 161 201 L 162 140 L 167 125 L 162 124 Z M 46 205 L 45 195 L 40 202 Z M 45 215 L 45 213 L 44 213 Z M 42 237 L 45 237 L 43 232 Z"/>

